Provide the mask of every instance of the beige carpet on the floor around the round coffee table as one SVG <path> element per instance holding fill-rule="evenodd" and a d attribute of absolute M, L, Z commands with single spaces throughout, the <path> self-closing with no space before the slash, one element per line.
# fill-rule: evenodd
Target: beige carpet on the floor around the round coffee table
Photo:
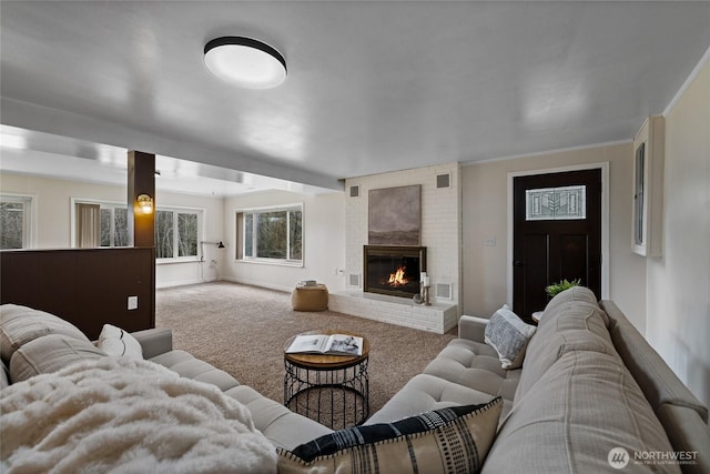
<path fill-rule="evenodd" d="M 291 293 L 229 282 L 156 291 L 155 325 L 172 327 L 173 345 L 283 403 L 286 340 L 315 330 L 365 335 L 371 342 L 371 414 L 422 372 L 456 336 L 434 334 L 333 311 L 296 312 Z"/>

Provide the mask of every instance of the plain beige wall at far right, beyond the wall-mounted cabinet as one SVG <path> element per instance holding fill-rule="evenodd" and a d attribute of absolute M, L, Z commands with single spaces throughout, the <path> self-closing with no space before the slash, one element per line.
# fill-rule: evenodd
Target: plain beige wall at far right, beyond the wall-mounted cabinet
<path fill-rule="evenodd" d="M 710 64 L 666 117 L 662 256 L 648 259 L 647 339 L 710 405 Z"/>

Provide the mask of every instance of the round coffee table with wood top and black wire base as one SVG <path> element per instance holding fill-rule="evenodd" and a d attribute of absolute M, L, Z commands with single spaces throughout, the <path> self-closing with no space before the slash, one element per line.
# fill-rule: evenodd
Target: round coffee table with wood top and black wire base
<path fill-rule="evenodd" d="M 287 354 L 284 345 L 284 405 L 332 430 L 363 423 L 369 415 L 369 341 L 347 331 L 307 334 L 351 334 L 363 337 L 362 355 Z"/>

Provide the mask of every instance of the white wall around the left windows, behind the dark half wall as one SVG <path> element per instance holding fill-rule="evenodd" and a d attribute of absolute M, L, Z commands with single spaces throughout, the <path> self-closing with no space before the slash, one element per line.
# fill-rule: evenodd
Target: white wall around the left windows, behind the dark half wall
<path fill-rule="evenodd" d="M 30 159 L 31 157 L 28 157 Z M 80 181 L 55 180 L 0 173 L 0 190 L 3 193 L 33 196 L 34 232 L 33 249 L 68 249 L 71 243 L 71 203 L 74 199 L 91 199 L 108 202 L 125 202 L 126 186 L 93 184 Z M 222 240 L 223 200 L 221 198 L 155 192 L 155 204 L 204 210 L 205 235 L 202 240 Z M 160 263 L 155 269 L 155 285 L 173 286 L 213 280 L 216 273 L 209 268 L 210 260 L 217 260 L 222 271 L 226 253 L 216 246 L 205 245 L 207 263 Z"/>

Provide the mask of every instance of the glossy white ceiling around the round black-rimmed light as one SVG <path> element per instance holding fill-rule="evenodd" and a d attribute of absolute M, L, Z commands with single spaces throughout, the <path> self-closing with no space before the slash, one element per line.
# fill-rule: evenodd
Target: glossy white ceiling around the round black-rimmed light
<path fill-rule="evenodd" d="M 135 149 L 219 194 L 630 140 L 710 46 L 707 1 L 2 1 L 0 17 L 3 170 L 22 171 L 20 135 L 45 174 Z M 274 46 L 286 81 L 212 77 L 219 36 Z"/>

